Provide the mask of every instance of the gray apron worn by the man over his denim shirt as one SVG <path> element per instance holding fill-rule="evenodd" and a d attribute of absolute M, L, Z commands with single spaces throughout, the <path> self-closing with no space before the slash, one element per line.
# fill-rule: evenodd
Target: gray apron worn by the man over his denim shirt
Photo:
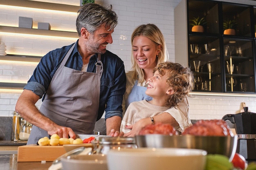
<path fill-rule="evenodd" d="M 75 44 L 74 44 L 75 45 Z M 60 126 L 70 127 L 76 134 L 94 134 L 99 110 L 99 95 L 103 64 L 95 64 L 96 73 L 77 71 L 65 66 L 74 45 L 65 55 L 52 77 L 40 112 Z M 33 126 L 27 144 L 36 144 L 47 131 Z"/>

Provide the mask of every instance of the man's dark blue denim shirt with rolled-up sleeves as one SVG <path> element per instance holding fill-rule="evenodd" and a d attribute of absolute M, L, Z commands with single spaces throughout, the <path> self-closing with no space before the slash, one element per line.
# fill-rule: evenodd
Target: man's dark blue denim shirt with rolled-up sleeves
<path fill-rule="evenodd" d="M 81 71 L 83 60 L 77 50 L 77 44 L 78 40 L 76 41 L 74 50 L 65 66 Z M 24 89 L 31 90 L 36 95 L 39 95 L 40 98 L 43 97 L 44 99 L 54 73 L 60 66 L 67 51 L 72 45 L 73 44 L 63 46 L 61 49 L 55 49 L 42 57 Z M 96 62 L 97 55 L 93 55 L 90 58 L 87 72 L 95 73 Z M 122 117 L 122 100 L 126 90 L 124 62 L 110 51 L 106 51 L 106 53 L 101 55 L 101 62 L 103 63 L 103 73 L 101 76 L 100 101 L 97 120 L 102 117 L 104 110 L 106 110 L 105 119 L 112 116 Z M 67 82 L 68 81 L 69 80 L 67 79 Z M 90 86 L 90 84 L 88 84 L 88 86 Z"/>

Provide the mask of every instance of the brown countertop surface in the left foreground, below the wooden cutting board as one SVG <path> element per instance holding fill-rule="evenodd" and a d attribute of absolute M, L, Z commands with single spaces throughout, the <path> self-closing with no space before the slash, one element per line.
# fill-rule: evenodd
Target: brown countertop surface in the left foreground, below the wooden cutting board
<path fill-rule="evenodd" d="M 17 162 L 17 154 L 0 155 L 0 170 L 48 170 L 52 162 Z"/>

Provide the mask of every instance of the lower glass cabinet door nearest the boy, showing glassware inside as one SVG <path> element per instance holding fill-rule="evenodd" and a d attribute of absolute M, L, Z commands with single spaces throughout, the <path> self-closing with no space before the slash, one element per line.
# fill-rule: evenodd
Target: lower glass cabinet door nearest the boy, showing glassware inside
<path fill-rule="evenodd" d="M 219 38 L 190 35 L 189 42 L 189 65 L 195 77 L 194 91 L 223 91 Z"/>

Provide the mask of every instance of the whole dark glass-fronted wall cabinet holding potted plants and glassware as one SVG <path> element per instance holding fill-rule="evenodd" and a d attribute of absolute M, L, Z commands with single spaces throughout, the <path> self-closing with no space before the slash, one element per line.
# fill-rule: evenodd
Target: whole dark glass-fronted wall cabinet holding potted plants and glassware
<path fill-rule="evenodd" d="M 194 91 L 256 92 L 255 23 L 256 7 L 252 5 L 212 0 L 178 4 L 175 61 L 191 67 Z M 180 29 L 183 26 L 186 29 Z"/>

